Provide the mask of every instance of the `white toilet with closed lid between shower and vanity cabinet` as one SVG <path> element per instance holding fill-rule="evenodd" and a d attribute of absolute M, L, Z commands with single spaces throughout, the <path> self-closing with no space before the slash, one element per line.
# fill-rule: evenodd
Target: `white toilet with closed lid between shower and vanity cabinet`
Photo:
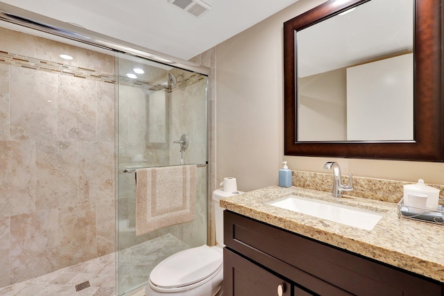
<path fill-rule="evenodd" d="M 240 191 L 213 192 L 216 244 L 201 245 L 169 256 L 151 271 L 146 296 L 214 296 L 221 295 L 223 280 L 223 209 L 219 200 Z"/>

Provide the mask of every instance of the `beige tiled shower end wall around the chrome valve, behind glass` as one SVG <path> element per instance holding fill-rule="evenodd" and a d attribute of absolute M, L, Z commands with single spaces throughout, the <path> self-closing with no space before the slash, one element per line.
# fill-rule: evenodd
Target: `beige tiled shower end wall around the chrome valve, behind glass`
<path fill-rule="evenodd" d="M 179 69 L 171 70 L 176 76 L 182 72 Z M 185 74 L 184 81 L 187 78 L 189 73 Z M 198 82 L 170 94 L 170 139 L 178 141 L 182 134 L 189 137 L 185 164 L 205 164 L 207 160 L 206 85 L 207 79 L 201 76 Z M 173 144 L 170 148 L 170 164 L 180 164 L 179 147 L 178 144 Z M 197 171 L 196 218 L 193 223 L 183 223 L 182 227 L 171 229 L 171 234 L 190 247 L 207 243 L 207 168 L 198 167 Z"/>

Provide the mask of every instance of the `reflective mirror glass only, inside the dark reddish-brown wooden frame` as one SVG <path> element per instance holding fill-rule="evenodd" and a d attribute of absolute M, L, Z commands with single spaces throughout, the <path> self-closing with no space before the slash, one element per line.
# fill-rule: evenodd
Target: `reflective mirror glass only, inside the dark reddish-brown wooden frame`
<path fill-rule="evenodd" d="M 413 0 L 371 0 L 296 38 L 298 141 L 413 141 Z"/>

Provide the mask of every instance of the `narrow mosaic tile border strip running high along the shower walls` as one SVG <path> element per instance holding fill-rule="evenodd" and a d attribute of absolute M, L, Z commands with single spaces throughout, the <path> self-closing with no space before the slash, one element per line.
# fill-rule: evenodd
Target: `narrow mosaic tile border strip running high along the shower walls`
<path fill-rule="evenodd" d="M 83 67 L 75 67 L 59 62 L 51 62 L 49 60 L 41 60 L 38 58 L 31 58 L 26 55 L 17 55 L 15 53 L 8 53 L 0 51 L 0 64 L 8 64 L 10 66 L 22 67 L 26 69 L 33 69 L 36 71 L 46 71 L 50 73 L 59 73 L 61 75 L 73 76 L 76 78 L 84 78 L 89 80 L 97 80 L 101 82 L 108 82 L 112 84 L 119 83 L 120 85 L 127 85 L 130 87 L 140 87 L 149 89 L 154 92 L 165 90 L 168 93 L 174 92 L 178 89 L 194 85 L 197 82 L 205 80 L 205 76 L 197 73 L 192 73 L 191 76 L 178 81 L 177 85 L 164 85 L 155 82 L 144 80 L 134 80 L 126 76 L 116 77 L 113 73 L 106 73 L 103 71 L 96 71 Z"/>

